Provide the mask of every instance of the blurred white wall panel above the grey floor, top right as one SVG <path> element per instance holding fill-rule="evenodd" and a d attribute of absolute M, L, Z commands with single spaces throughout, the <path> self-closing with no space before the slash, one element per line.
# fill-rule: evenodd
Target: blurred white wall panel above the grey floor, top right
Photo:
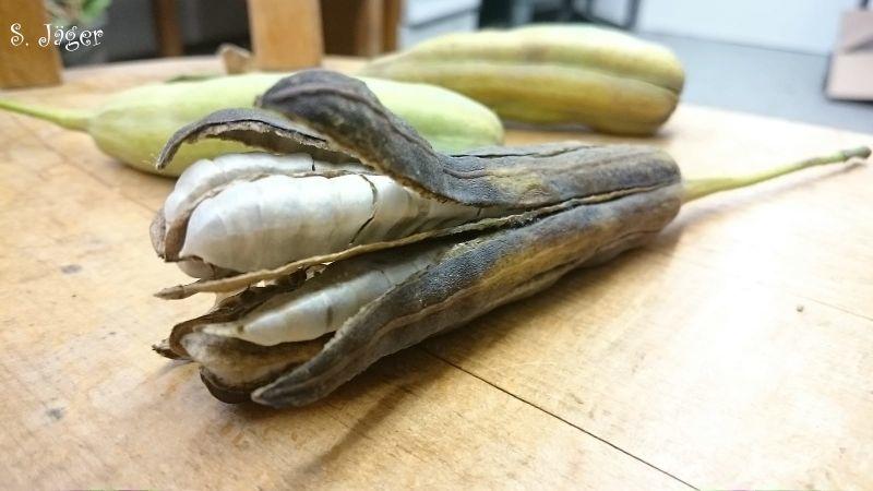
<path fill-rule="evenodd" d="M 858 0 L 641 0 L 637 28 L 827 53 L 836 43 L 842 12 L 859 3 Z"/>

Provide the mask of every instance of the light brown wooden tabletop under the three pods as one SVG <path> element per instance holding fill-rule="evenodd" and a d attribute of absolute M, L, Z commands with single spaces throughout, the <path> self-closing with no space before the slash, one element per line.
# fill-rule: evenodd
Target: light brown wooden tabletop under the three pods
<path fill-rule="evenodd" d="M 86 106 L 217 70 L 106 67 L 3 95 Z M 619 140 L 507 142 L 569 137 Z M 641 141 L 703 175 L 873 135 L 682 106 Z M 147 236 L 170 180 L 24 117 L 0 115 L 0 142 L 4 487 L 873 488 L 870 166 L 694 203 L 653 247 L 277 411 L 222 404 L 150 349 L 211 302 L 152 297 L 184 279 Z"/>

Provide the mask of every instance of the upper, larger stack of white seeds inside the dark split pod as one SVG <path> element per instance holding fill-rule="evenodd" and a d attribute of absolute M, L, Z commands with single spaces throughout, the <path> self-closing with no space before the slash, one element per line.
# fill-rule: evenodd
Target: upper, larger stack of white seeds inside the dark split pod
<path fill-rule="evenodd" d="M 386 176 L 300 177 L 287 171 L 312 165 L 339 168 L 311 164 L 308 156 L 297 155 L 284 163 L 277 157 L 259 156 L 256 165 L 249 163 L 253 155 L 237 157 L 240 167 L 265 171 L 248 180 L 228 181 L 228 176 L 240 172 L 230 168 L 203 170 L 199 163 L 191 168 L 195 177 L 188 178 L 187 171 L 177 185 L 187 197 L 171 196 L 165 206 L 165 214 L 170 217 L 183 213 L 186 205 L 179 203 L 188 203 L 189 208 L 191 203 L 195 204 L 179 252 L 183 271 L 193 276 L 210 277 L 215 270 L 268 270 L 352 246 L 395 240 L 419 231 L 454 227 L 480 216 L 505 214 L 503 209 L 483 211 L 423 197 Z M 225 160 L 225 166 L 237 164 Z M 282 173 L 264 177 L 271 167 L 279 165 L 285 166 Z M 360 166 L 357 169 L 366 170 Z M 211 184 L 206 187 L 194 182 L 195 179 Z M 215 182 L 223 182 L 223 187 L 215 189 Z M 212 191 L 204 194 L 204 189 Z M 191 197 L 194 195 L 198 197 Z"/>

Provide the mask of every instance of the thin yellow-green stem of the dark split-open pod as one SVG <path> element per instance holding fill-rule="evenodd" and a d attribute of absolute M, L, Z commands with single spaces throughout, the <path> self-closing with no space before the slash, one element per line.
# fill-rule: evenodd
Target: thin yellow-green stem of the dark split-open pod
<path fill-rule="evenodd" d="M 764 182 L 777 178 L 779 176 L 785 176 L 787 173 L 796 172 L 798 170 L 806 169 L 810 167 L 823 166 L 827 164 L 838 164 L 854 157 L 866 158 L 869 156 L 870 156 L 870 147 L 859 146 L 856 148 L 837 152 L 836 154 L 808 158 L 805 160 L 797 161 L 793 164 L 772 167 L 769 169 L 746 173 L 742 176 L 687 179 L 684 181 L 685 193 L 682 199 L 682 202 L 687 203 L 698 197 L 708 196 L 709 194 L 718 193 L 721 191 L 745 188 L 748 185 L 756 184 L 758 182 Z"/>

